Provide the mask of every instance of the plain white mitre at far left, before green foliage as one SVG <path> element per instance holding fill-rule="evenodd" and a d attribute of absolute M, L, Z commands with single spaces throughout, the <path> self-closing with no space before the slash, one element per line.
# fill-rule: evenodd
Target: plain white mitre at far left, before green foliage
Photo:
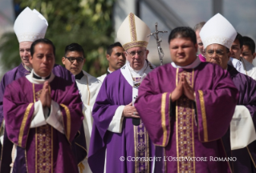
<path fill-rule="evenodd" d="M 47 32 L 48 22 L 37 10 L 26 7 L 14 22 L 14 32 L 18 42 L 34 42 L 44 38 Z"/>

